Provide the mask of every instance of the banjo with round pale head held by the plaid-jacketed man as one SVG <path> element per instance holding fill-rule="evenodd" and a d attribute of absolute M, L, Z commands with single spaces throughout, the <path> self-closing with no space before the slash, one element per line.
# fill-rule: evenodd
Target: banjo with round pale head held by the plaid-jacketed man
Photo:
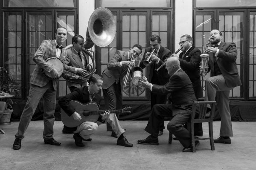
<path fill-rule="evenodd" d="M 53 68 L 55 68 L 55 70 L 57 70 L 57 72 L 58 72 L 58 77 L 52 77 L 52 75 L 49 72 L 44 71 L 44 69 L 41 69 L 44 76 L 47 77 L 48 79 L 59 79 L 62 76 L 62 74 L 67 74 L 67 75 L 70 75 L 70 76 L 78 76 L 76 74 L 73 74 L 69 71 L 64 70 L 63 62 L 61 61 L 61 59 L 59 59 L 57 57 L 48 57 L 47 59 L 45 59 L 45 61 L 49 65 L 52 65 Z M 87 79 L 84 78 L 84 77 L 78 76 L 78 78 L 82 79 L 84 81 L 87 81 Z"/>

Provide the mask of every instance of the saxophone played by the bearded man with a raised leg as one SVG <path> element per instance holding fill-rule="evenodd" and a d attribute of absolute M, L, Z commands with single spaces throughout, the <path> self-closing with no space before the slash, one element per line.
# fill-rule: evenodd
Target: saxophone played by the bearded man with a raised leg
<path fill-rule="evenodd" d="M 204 47 L 203 47 L 203 50 L 204 50 L 204 54 L 201 54 L 200 57 L 201 57 L 201 62 L 199 62 L 199 68 L 200 68 L 200 76 L 204 77 L 207 72 L 208 72 L 208 61 L 209 61 L 209 54 L 206 53 L 206 49 L 210 46 L 211 42 L 210 42 L 210 39 L 211 37 L 209 37 L 209 39 L 207 39 L 207 44 L 205 46 L 205 50 L 204 50 Z"/>

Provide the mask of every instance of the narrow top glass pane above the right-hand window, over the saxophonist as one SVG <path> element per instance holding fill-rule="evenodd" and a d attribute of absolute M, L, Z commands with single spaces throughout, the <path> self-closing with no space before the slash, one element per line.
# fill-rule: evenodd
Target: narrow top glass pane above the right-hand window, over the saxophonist
<path fill-rule="evenodd" d="M 196 0 L 196 7 L 242 7 L 256 6 L 255 0 Z"/>

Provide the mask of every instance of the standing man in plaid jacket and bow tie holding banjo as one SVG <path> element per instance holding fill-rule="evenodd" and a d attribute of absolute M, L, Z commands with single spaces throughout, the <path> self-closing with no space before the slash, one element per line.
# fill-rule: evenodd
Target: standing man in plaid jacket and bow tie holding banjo
<path fill-rule="evenodd" d="M 35 52 L 33 60 L 36 63 L 35 69 L 30 79 L 30 90 L 28 100 L 23 109 L 23 113 L 20 117 L 20 123 L 18 132 L 15 134 L 15 141 L 13 144 L 14 150 L 19 150 L 21 147 L 21 139 L 24 138 L 24 133 L 31 121 L 35 109 L 43 97 L 44 102 L 44 143 L 52 145 L 61 145 L 61 143 L 55 141 L 52 138 L 53 124 L 54 124 L 54 112 L 56 103 L 56 90 L 57 80 L 48 79 L 44 76 L 41 69 L 48 72 L 52 77 L 58 77 L 58 72 L 52 65 L 47 63 L 45 59 L 48 57 L 58 57 L 62 62 L 67 57 L 67 51 L 62 49 L 62 44 L 67 39 L 67 29 L 64 27 L 57 28 L 55 32 L 55 40 L 44 40 Z"/>

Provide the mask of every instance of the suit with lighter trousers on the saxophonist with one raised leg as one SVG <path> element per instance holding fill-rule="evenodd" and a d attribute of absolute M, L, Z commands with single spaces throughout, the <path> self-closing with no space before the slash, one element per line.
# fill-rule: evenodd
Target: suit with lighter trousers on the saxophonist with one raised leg
<path fill-rule="evenodd" d="M 211 77 L 205 82 L 206 94 L 204 100 L 211 101 L 215 100 L 216 97 L 217 108 L 221 116 L 220 136 L 233 136 L 229 94 L 230 90 L 241 85 L 236 66 L 236 44 L 233 42 L 221 42 L 218 50 L 217 57 L 215 57 L 215 54 L 209 53 Z M 220 70 L 218 75 L 215 69 Z"/>

